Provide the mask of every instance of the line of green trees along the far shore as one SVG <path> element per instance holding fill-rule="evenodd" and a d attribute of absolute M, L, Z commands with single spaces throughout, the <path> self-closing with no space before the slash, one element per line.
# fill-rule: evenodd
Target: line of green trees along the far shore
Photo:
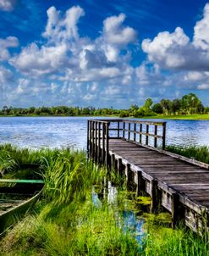
<path fill-rule="evenodd" d="M 194 94 L 190 93 L 181 98 L 173 100 L 162 98 L 159 103 L 153 103 L 149 97 L 145 103 L 139 107 L 137 104 L 131 105 L 129 109 L 96 109 L 93 107 L 30 107 L 27 109 L 13 108 L 3 106 L 0 115 L 118 115 L 120 117 L 143 117 L 154 115 L 179 115 L 179 114 L 209 114 L 209 107 L 204 107 L 201 100 Z"/>

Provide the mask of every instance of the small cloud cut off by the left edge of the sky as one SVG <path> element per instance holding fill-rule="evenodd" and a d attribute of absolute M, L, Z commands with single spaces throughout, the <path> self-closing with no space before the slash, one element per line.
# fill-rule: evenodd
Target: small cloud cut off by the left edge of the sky
<path fill-rule="evenodd" d="M 9 47 L 18 47 L 19 41 L 15 36 L 8 36 L 6 39 L 0 38 L 0 61 L 8 60 L 10 54 L 8 52 Z"/>

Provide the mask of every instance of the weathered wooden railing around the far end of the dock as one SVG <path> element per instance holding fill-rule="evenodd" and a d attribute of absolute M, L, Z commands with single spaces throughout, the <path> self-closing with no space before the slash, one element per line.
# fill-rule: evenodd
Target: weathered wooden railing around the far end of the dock
<path fill-rule="evenodd" d="M 107 163 L 109 139 L 117 138 L 140 145 L 165 149 L 166 122 L 146 120 L 88 120 L 88 157 L 96 159 L 96 162 Z"/>

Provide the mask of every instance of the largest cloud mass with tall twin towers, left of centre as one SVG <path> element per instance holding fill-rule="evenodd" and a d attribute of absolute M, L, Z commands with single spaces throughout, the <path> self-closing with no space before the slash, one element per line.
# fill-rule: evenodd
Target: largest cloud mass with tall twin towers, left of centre
<path fill-rule="evenodd" d="M 129 53 L 121 51 L 136 42 L 137 34 L 124 25 L 125 15 L 105 19 L 102 34 L 91 40 L 79 35 L 78 23 L 84 14 L 79 6 L 65 13 L 49 8 L 46 29 L 42 33 L 47 42 L 41 46 L 30 43 L 9 63 L 24 75 L 50 75 L 50 79 L 58 81 L 101 81 L 127 76 Z"/>

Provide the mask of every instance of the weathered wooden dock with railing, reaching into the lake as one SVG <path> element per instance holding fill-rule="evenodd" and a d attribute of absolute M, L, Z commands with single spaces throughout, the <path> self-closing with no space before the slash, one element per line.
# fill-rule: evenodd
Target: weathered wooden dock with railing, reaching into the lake
<path fill-rule="evenodd" d="M 209 165 L 165 150 L 166 123 L 88 120 L 88 157 L 124 174 L 151 211 L 167 209 L 193 231 L 208 231 Z"/>

